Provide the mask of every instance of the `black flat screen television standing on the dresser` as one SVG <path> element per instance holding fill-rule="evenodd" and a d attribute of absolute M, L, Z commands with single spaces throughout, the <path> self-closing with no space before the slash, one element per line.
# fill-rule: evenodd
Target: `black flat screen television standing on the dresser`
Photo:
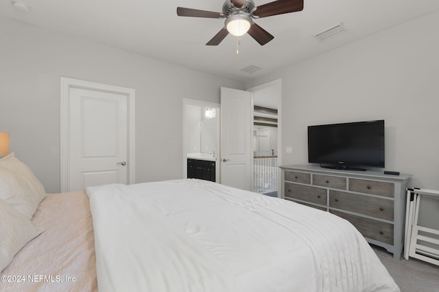
<path fill-rule="evenodd" d="M 308 161 L 325 168 L 384 168 L 384 120 L 308 127 Z"/>

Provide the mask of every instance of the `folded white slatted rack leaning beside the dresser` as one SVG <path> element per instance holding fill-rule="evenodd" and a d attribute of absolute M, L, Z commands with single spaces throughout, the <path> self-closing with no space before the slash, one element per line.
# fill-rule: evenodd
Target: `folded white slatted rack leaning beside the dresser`
<path fill-rule="evenodd" d="M 409 257 L 418 258 L 439 265 L 439 230 L 418 226 L 419 205 L 422 196 L 439 198 L 439 191 L 407 189 L 404 258 L 406 260 Z"/>

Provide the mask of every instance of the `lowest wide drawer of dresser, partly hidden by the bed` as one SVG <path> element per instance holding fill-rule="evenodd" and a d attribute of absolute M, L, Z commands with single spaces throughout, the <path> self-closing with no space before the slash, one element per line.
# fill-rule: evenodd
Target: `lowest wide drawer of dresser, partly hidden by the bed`
<path fill-rule="evenodd" d="M 390 245 L 393 245 L 394 243 L 393 224 L 363 218 L 339 211 L 329 210 L 329 212 L 351 222 L 364 237 L 375 239 Z"/>

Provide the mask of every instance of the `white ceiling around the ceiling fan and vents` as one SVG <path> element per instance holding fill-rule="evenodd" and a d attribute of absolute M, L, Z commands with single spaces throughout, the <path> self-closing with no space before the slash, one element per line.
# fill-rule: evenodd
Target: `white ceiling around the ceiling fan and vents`
<path fill-rule="evenodd" d="M 261 46 L 245 35 L 236 55 L 237 38 L 231 35 L 218 46 L 205 45 L 224 27 L 224 19 L 176 15 L 177 6 L 222 12 L 222 0 L 22 1 L 29 5 L 29 12 L 16 10 L 10 0 L 3 0 L 0 16 L 238 81 L 439 10 L 438 0 L 305 0 L 302 12 L 255 20 L 274 40 Z M 269 2 L 254 0 L 255 5 Z M 343 34 L 325 42 L 313 37 L 340 22 L 346 28 Z M 239 71 L 250 65 L 262 69 Z"/>

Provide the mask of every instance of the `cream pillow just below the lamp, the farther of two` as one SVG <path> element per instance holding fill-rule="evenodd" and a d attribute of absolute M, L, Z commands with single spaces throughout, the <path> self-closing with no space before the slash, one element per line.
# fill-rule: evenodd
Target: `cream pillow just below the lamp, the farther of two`
<path fill-rule="evenodd" d="M 38 178 L 14 153 L 0 159 L 0 199 L 31 219 L 46 196 Z"/>

